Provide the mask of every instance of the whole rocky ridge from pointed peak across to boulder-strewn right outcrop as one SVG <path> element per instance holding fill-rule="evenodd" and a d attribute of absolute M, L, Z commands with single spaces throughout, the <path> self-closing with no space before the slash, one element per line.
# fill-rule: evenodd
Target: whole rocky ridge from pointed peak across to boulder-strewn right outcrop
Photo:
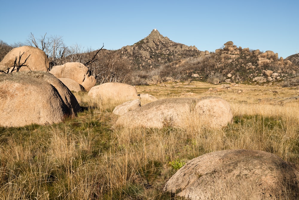
<path fill-rule="evenodd" d="M 223 49 L 215 52 L 200 51 L 195 46 L 173 42 L 156 29 L 144 39 L 116 52 L 129 59 L 136 77 L 147 81 L 158 75 L 180 80 L 217 78 L 219 82 L 260 84 L 291 79 L 299 72 L 294 58 L 283 59 L 271 50 L 261 52 L 237 47 L 228 41 Z M 155 82 L 156 79 L 157 76 Z"/>

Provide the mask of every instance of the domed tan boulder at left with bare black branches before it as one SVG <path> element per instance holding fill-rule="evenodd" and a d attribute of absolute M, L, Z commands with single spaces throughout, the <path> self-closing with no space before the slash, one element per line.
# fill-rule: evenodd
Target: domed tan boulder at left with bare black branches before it
<path fill-rule="evenodd" d="M 11 49 L 0 62 L 0 70 L 7 72 L 9 69 L 11 72 L 15 61 L 17 66 L 22 66 L 19 71 L 48 71 L 49 69 L 49 60 L 45 52 L 33 46 Z M 16 67 L 13 72 L 16 72 Z"/>

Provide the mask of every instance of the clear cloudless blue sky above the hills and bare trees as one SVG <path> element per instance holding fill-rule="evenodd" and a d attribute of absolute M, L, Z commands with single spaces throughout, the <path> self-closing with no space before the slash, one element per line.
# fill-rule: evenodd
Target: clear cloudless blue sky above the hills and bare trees
<path fill-rule="evenodd" d="M 215 51 L 227 41 L 272 50 L 286 58 L 299 52 L 299 1 L 9 1 L 0 0 L 0 40 L 8 44 L 61 36 L 67 46 L 120 49 L 156 28 L 170 40 Z"/>

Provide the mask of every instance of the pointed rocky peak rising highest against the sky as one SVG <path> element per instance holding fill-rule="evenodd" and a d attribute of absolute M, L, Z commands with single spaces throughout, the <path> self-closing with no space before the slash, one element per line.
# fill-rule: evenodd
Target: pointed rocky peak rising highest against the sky
<path fill-rule="evenodd" d="M 139 68 L 157 67 L 175 60 L 200 55 L 200 51 L 195 46 L 173 42 L 161 35 L 157 29 L 153 29 L 147 37 L 135 44 L 122 47 L 120 51 Z"/>

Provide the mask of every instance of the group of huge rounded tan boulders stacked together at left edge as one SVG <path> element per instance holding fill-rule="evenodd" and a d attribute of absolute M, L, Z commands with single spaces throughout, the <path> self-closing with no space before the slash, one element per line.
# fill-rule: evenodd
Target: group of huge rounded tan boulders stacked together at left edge
<path fill-rule="evenodd" d="M 95 85 L 81 63 L 54 66 L 45 52 L 32 46 L 12 49 L 0 62 L 0 126 L 53 124 L 80 111 L 71 91 Z M 59 78 L 59 79 L 58 79 Z"/>

